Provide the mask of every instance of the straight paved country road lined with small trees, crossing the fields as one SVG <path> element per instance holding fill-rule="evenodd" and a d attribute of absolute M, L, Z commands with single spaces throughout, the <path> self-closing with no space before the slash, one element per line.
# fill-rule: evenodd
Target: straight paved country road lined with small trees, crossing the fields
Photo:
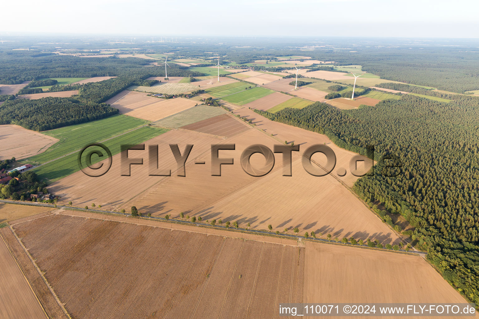
<path fill-rule="evenodd" d="M 16 205 L 30 205 L 30 206 L 43 206 L 43 207 L 50 207 L 53 208 L 53 204 L 47 204 L 47 203 L 32 203 L 32 202 L 20 202 L 20 201 L 14 201 L 14 200 L 4 200 L 0 199 L 0 203 L 7 203 L 7 204 L 16 204 Z M 114 215 L 121 215 L 121 216 L 131 216 L 131 214 L 127 213 L 121 213 L 118 211 L 113 211 L 113 210 L 102 210 L 102 209 L 85 209 L 81 207 L 71 207 L 67 205 L 58 205 L 57 204 L 57 209 L 70 209 L 70 210 L 82 210 L 82 211 L 90 211 L 90 212 L 96 212 L 96 213 L 103 213 L 103 214 L 114 214 Z M 158 216 L 151 216 L 151 217 L 138 217 L 142 219 L 147 219 L 147 220 L 158 220 L 158 221 L 163 221 L 166 222 L 167 220 L 164 217 L 158 217 Z M 227 228 L 226 226 L 223 225 L 215 225 L 212 226 L 210 224 L 206 223 L 193 223 L 190 220 L 178 220 L 178 219 L 169 219 L 168 222 L 174 222 L 177 224 L 185 224 L 185 225 L 190 225 L 190 226 L 197 226 L 197 227 L 205 227 L 205 228 L 212 228 L 212 229 L 221 229 L 221 230 L 227 230 L 227 231 L 239 231 L 239 232 L 246 232 L 246 233 L 253 233 L 253 234 L 258 234 L 258 235 L 266 235 L 266 236 L 278 236 L 278 237 L 283 237 L 283 238 L 289 238 L 289 239 L 294 239 L 294 240 L 305 240 L 304 236 L 301 235 L 295 235 L 295 234 L 288 234 L 288 233 L 280 233 L 279 235 L 276 235 L 272 231 L 262 231 L 262 230 L 256 230 L 256 229 L 245 229 L 245 228 L 234 228 L 230 226 Z M 330 240 L 326 238 L 312 238 L 309 237 L 308 241 L 312 242 L 329 242 L 331 243 Z M 348 246 L 356 246 L 358 248 L 364 248 L 364 249 L 371 249 L 367 245 L 359 246 L 359 244 L 353 245 L 350 242 L 342 245 L 348 245 Z M 422 257 L 425 257 L 427 253 L 425 252 L 419 252 L 419 251 L 412 251 L 410 250 L 409 252 L 406 252 L 404 249 L 400 249 L 398 252 L 395 252 L 393 250 L 387 250 L 386 248 L 378 249 L 374 248 L 374 250 L 377 251 L 384 251 L 384 252 L 393 252 L 393 253 L 409 253 L 409 254 L 416 254 Z"/>

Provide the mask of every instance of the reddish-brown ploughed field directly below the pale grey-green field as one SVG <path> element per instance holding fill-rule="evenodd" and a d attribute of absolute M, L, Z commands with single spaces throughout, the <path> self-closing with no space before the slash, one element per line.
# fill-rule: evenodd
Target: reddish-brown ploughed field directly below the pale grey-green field
<path fill-rule="evenodd" d="M 210 119 L 199 121 L 190 125 L 182 126 L 184 130 L 203 132 L 212 135 L 230 137 L 250 129 L 250 126 L 231 117 L 229 114 L 222 114 Z"/>

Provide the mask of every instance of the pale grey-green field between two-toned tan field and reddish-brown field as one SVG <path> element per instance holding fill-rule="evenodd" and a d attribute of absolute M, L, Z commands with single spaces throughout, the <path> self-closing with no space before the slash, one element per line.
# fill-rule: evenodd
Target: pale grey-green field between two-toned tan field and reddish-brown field
<path fill-rule="evenodd" d="M 203 121 L 209 118 L 212 118 L 217 115 L 225 114 L 226 110 L 218 108 L 215 106 L 207 105 L 198 105 L 184 110 L 180 113 L 171 115 L 167 118 L 164 118 L 160 121 L 153 123 L 154 126 L 159 127 L 169 127 L 169 128 L 179 128 L 184 125 L 196 123 L 198 121 Z"/>

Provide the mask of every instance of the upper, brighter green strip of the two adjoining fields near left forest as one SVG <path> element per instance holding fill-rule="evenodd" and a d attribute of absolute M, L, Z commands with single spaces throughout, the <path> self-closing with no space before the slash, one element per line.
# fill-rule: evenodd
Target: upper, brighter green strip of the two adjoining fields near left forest
<path fill-rule="evenodd" d="M 100 142 L 107 138 L 129 131 L 148 121 L 126 115 L 114 115 L 106 119 L 61 127 L 42 132 L 56 137 L 59 141 L 44 153 L 27 158 L 26 163 L 41 164 L 57 157 L 80 150 L 89 143 Z"/>

